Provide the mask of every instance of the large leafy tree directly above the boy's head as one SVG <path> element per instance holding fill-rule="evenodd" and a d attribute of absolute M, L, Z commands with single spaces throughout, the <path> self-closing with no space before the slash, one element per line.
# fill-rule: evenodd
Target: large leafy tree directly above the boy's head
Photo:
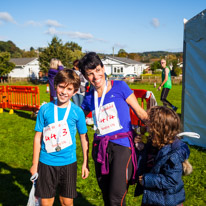
<path fill-rule="evenodd" d="M 58 37 L 53 37 L 51 43 L 47 48 L 44 48 L 39 54 L 39 62 L 41 71 L 47 73 L 49 70 L 49 63 L 52 58 L 61 60 L 62 64 L 67 68 L 72 68 L 73 61 L 80 59 L 83 56 L 81 47 L 74 42 L 62 43 Z"/>

